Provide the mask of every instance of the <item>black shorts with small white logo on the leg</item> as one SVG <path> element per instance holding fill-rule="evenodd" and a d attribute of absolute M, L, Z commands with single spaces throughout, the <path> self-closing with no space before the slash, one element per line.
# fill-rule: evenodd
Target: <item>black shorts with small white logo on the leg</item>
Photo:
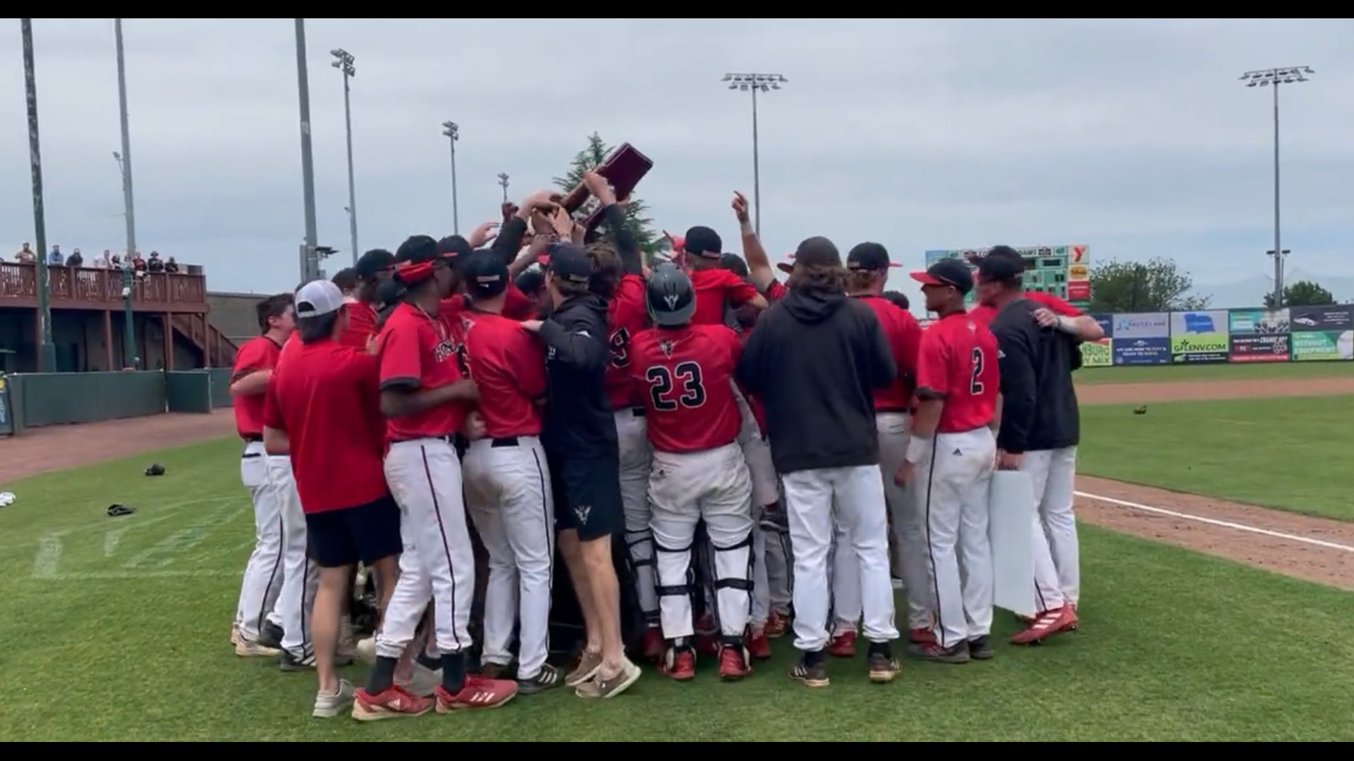
<path fill-rule="evenodd" d="M 584 542 L 624 529 L 619 454 L 547 459 L 550 487 L 555 497 L 556 529 L 578 529 L 578 539 Z"/>

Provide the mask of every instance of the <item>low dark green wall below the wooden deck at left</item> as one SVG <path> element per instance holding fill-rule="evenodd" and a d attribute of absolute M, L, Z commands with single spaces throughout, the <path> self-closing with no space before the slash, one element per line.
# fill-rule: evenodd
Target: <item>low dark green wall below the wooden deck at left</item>
<path fill-rule="evenodd" d="M 210 413 L 223 406 L 230 406 L 230 368 L 0 376 L 0 435 L 165 412 Z"/>

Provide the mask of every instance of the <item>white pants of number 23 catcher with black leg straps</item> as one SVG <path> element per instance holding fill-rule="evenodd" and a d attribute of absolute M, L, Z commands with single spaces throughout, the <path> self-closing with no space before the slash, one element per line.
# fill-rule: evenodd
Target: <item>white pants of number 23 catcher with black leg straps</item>
<path fill-rule="evenodd" d="M 650 527 L 658 555 L 663 636 L 692 636 L 691 559 L 705 521 L 715 558 L 715 611 L 724 638 L 742 638 L 751 607 L 753 486 L 737 443 L 701 452 L 654 452 Z"/>

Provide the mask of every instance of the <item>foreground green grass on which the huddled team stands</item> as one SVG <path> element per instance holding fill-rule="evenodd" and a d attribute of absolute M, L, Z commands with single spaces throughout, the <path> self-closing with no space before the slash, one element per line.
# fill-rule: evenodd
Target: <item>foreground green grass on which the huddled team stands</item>
<path fill-rule="evenodd" d="M 481 715 L 310 719 L 311 677 L 238 659 L 226 643 L 252 542 L 237 447 L 8 486 L 19 501 L 0 510 L 0 739 L 1354 741 L 1349 594 L 1093 528 L 1083 631 L 1002 646 L 987 664 L 904 662 L 880 687 L 857 658 L 808 691 L 784 676 L 781 640 L 739 684 L 705 669 L 678 685 L 650 670 L 601 704 L 559 691 Z M 142 477 L 152 460 L 168 475 Z M 106 517 L 114 501 L 137 513 Z M 999 615 L 998 628 L 1011 622 Z"/>

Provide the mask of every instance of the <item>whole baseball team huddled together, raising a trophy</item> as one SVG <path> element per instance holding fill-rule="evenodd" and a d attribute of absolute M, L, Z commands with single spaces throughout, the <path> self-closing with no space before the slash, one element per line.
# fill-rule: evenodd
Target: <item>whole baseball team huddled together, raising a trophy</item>
<path fill-rule="evenodd" d="M 1022 292 L 997 246 L 976 282 L 959 260 L 911 272 L 923 330 L 884 292 L 884 246 L 844 261 L 814 237 L 773 265 L 739 194 L 742 257 L 695 226 L 650 268 L 624 200 L 584 181 L 600 234 L 542 191 L 497 233 L 413 236 L 260 302 L 230 386 L 257 534 L 238 655 L 313 669 L 313 715 L 359 720 L 609 699 L 640 659 L 738 680 L 787 630 L 792 678 L 826 687 L 862 639 L 890 682 L 902 588 L 910 655 L 986 659 L 997 470 L 1026 471 L 1037 506 L 1037 611 L 1013 642 L 1076 628 L 1071 374 L 1093 318 Z M 582 623 L 567 668 L 556 555 Z M 628 653 L 623 600 L 643 619 Z M 337 668 L 356 658 L 355 688 Z"/>

